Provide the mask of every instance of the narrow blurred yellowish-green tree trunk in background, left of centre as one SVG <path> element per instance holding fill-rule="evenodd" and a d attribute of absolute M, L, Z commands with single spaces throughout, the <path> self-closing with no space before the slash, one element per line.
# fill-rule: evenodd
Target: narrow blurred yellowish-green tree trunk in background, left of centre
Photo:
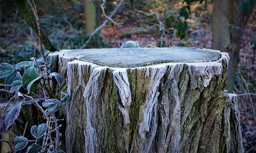
<path fill-rule="evenodd" d="M 101 1 L 84 0 L 84 16 L 86 19 L 86 34 L 90 35 L 101 24 Z M 94 47 L 101 46 L 99 33 L 94 35 Z"/>

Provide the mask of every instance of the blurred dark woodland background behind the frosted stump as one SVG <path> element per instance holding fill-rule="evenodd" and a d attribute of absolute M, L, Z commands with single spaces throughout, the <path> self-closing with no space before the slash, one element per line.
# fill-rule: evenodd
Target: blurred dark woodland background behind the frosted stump
<path fill-rule="evenodd" d="M 254 0 L 44 0 L 35 4 L 42 41 L 51 52 L 120 47 L 127 40 L 138 41 L 141 47 L 174 45 L 228 52 L 227 89 L 238 94 L 245 150 L 256 151 Z M 0 63 L 30 60 L 34 48 L 40 50 L 30 1 L 1 0 L 0 7 Z M 0 101 L 10 98 L 1 91 L 0 97 Z"/>

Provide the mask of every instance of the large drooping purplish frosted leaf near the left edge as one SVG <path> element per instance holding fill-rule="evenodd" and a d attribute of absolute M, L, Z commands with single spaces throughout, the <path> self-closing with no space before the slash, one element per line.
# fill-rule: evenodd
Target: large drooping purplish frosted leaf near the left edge
<path fill-rule="evenodd" d="M 8 108 L 6 111 L 6 118 L 5 118 L 5 127 L 6 130 L 9 129 L 9 127 L 13 124 L 15 119 L 17 119 L 20 108 L 22 108 L 23 100 L 17 101 L 17 103 L 11 107 Z"/>

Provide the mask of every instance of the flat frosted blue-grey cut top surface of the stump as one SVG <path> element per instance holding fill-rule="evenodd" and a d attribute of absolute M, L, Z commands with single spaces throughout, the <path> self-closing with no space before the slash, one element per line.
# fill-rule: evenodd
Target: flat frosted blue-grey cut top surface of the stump
<path fill-rule="evenodd" d="M 141 67 L 170 62 L 209 62 L 220 53 L 190 47 L 95 48 L 61 50 L 63 56 L 109 67 Z"/>

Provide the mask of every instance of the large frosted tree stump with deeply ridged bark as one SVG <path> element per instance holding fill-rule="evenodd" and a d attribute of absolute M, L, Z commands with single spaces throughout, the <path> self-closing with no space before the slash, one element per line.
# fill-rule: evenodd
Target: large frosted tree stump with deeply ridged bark
<path fill-rule="evenodd" d="M 67 152 L 243 152 L 228 55 L 187 47 L 61 50 Z"/>

